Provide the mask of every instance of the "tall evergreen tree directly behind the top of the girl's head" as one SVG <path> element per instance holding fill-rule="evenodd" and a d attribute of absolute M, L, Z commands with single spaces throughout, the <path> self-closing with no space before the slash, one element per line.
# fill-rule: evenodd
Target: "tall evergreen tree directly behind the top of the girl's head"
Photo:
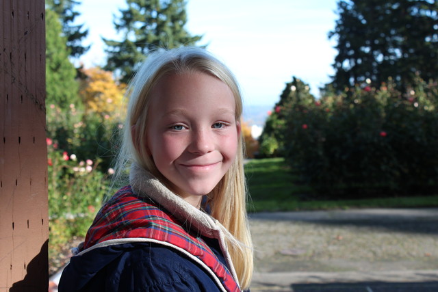
<path fill-rule="evenodd" d="M 127 8 L 120 10 L 114 21 L 123 40 L 103 39 L 108 54 L 105 70 L 116 71 L 127 83 L 146 55 L 157 48 L 172 49 L 194 45 L 201 36 L 190 36 L 185 0 L 127 0 Z"/>

